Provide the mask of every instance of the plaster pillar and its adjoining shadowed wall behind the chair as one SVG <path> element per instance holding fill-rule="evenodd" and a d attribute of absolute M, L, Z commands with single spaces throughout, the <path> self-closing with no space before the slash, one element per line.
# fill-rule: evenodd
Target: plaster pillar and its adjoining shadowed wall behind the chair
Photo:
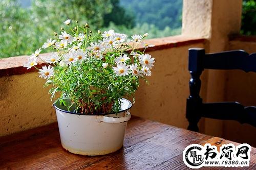
<path fill-rule="evenodd" d="M 208 38 L 205 46 L 207 53 L 235 49 L 255 52 L 256 42 L 229 42 L 230 35 L 240 32 L 242 0 L 183 0 L 183 4 L 182 34 Z M 256 74 L 236 70 L 206 72 L 204 102 L 239 101 L 247 106 L 256 105 Z M 202 133 L 256 145 L 256 138 L 251 135 L 256 134 L 256 129 L 250 125 L 207 118 L 201 123 L 204 125 L 204 129 L 200 129 Z"/>

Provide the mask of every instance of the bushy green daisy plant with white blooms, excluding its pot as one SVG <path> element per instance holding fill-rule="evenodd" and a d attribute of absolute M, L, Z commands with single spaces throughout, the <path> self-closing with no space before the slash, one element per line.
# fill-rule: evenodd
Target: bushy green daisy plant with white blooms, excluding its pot
<path fill-rule="evenodd" d="M 52 53 L 45 61 L 40 58 L 41 48 L 35 51 L 24 64 L 27 69 L 36 67 L 38 60 L 48 66 L 38 69 L 39 77 L 47 79 L 46 86 L 52 98 L 60 92 L 60 102 L 68 108 L 76 106 L 80 113 L 108 113 L 119 111 L 121 99 L 135 93 L 139 79 L 151 76 L 154 58 L 144 54 L 148 46 L 142 41 L 148 34 L 132 36 L 126 42 L 126 34 L 114 30 L 93 33 L 88 23 L 71 26 L 70 19 L 56 39 L 49 39 L 42 48 L 51 48 Z M 143 45 L 144 51 L 138 50 Z M 127 52 L 130 50 L 130 52 Z M 71 104 L 66 103 L 71 100 Z"/>

